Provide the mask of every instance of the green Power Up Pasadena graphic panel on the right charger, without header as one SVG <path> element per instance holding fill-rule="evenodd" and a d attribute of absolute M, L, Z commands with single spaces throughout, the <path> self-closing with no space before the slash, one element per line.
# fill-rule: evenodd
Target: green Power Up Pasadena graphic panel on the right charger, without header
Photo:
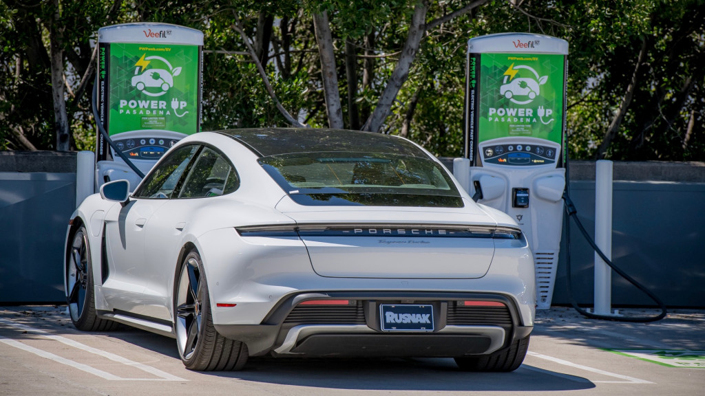
<path fill-rule="evenodd" d="M 561 143 L 564 56 L 482 54 L 479 142 L 526 136 Z"/>

